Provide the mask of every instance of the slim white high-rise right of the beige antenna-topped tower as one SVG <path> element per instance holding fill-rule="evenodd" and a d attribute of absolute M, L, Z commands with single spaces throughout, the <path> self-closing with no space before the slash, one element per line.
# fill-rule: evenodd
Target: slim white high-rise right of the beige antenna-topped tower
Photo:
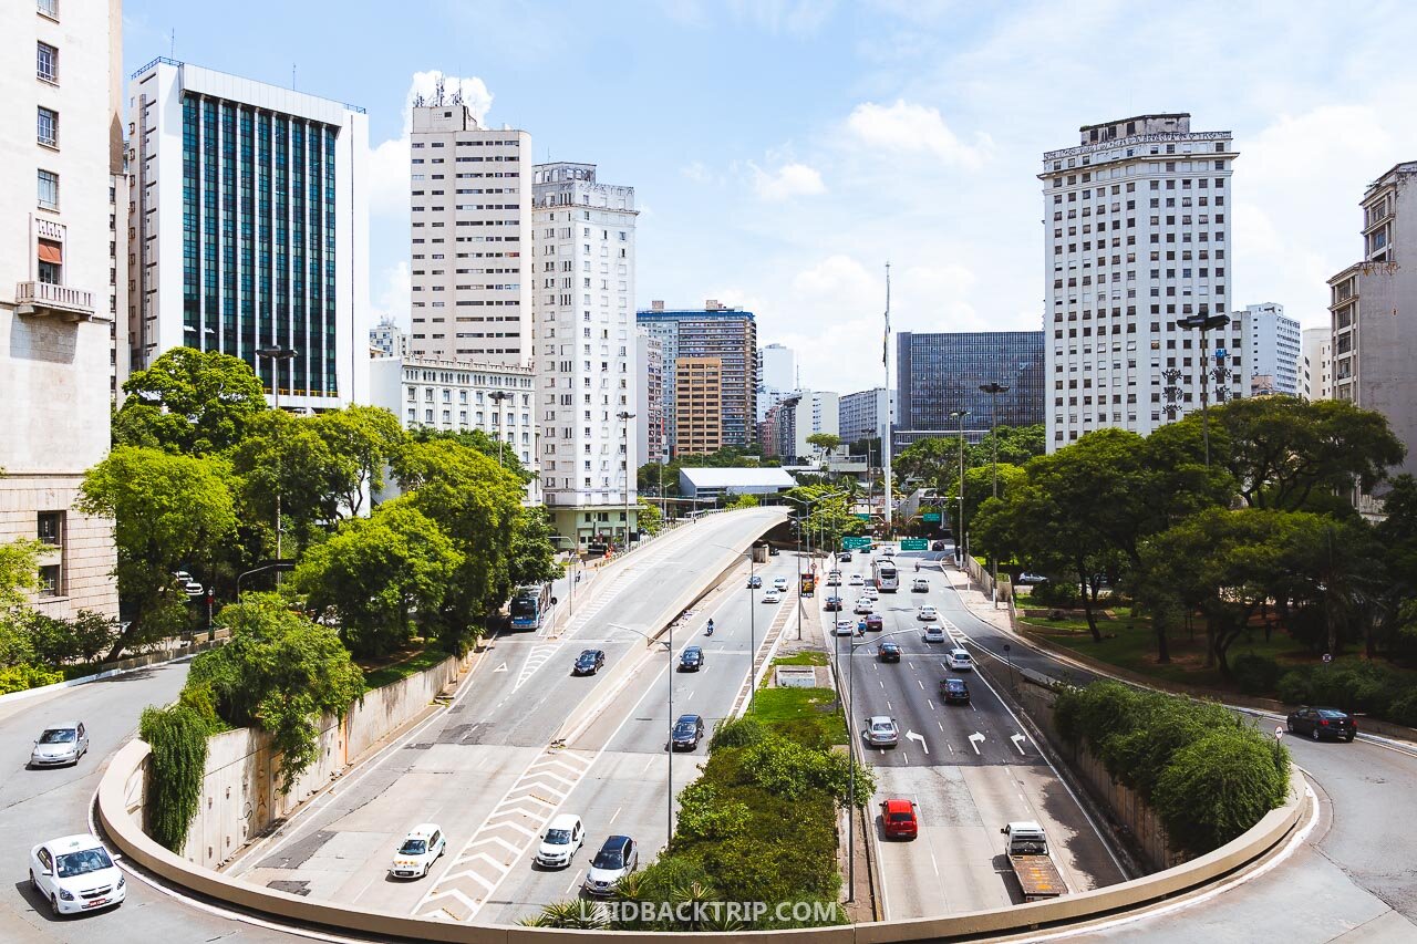
<path fill-rule="evenodd" d="M 567 537 L 635 530 L 635 189 L 595 164 L 533 167 L 541 486 Z"/>

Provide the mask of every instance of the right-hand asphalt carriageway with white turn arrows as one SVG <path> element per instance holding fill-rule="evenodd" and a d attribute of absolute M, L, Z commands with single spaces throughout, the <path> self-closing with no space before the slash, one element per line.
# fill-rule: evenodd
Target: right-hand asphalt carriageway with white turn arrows
<path fill-rule="evenodd" d="M 1005 824 L 1019 819 L 1044 826 L 1070 890 L 1124 880 L 1093 824 L 988 680 L 979 672 L 945 668 L 952 642 L 924 641 L 931 624 L 918 619 L 920 605 L 928 602 L 941 611 L 937 622 L 948 636 L 966 615 L 958 612 L 958 597 L 938 570 L 917 574 L 913 564 L 918 554 L 903 553 L 896 560 L 901 590 L 881 594 L 876 608 L 884 629 L 867 634 L 864 645 L 850 656 L 857 736 L 864 719 L 876 714 L 894 717 L 901 731 L 897 747 L 864 748 L 876 764 L 873 808 L 888 797 L 913 799 L 921 826 L 914 841 L 888 841 L 879 812 L 874 816 L 886 917 L 951 914 L 1022 901 L 999 835 Z M 857 560 L 840 567 L 843 573 L 856 567 L 866 574 L 870 564 Z M 930 580 L 930 592 L 911 592 L 917 575 Z M 884 638 L 900 645 L 898 663 L 877 658 L 877 639 Z M 836 642 L 845 655 L 849 639 Z M 846 658 L 840 663 L 846 665 Z M 947 676 L 966 682 L 969 704 L 942 702 L 939 683 Z"/>

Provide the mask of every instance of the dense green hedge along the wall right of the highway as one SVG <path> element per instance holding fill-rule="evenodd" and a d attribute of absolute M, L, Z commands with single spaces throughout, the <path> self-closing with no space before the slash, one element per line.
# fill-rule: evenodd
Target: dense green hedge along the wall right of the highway
<path fill-rule="evenodd" d="M 1094 682 L 1058 693 L 1054 720 L 1156 812 L 1176 849 L 1217 849 L 1284 804 L 1289 753 L 1220 704 Z"/>

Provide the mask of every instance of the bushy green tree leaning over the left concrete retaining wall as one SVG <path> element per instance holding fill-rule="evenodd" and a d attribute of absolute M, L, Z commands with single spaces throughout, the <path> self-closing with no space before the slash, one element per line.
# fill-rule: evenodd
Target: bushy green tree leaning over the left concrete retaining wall
<path fill-rule="evenodd" d="M 271 734 L 281 755 L 281 791 L 315 761 L 319 719 L 343 717 L 364 692 L 364 675 L 330 626 L 292 612 L 273 594 L 247 594 L 221 609 L 227 645 L 197 655 L 183 702 L 211 706 L 237 727 Z"/>

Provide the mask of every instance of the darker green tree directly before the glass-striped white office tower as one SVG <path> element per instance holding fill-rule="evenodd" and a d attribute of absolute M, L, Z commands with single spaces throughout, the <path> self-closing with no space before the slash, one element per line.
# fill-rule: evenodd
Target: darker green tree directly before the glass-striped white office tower
<path fill-rule="evenodd" d="M 266 410 L 261 380 L 247 361 L 218 352 L 173 347 L 123 383 L 113 418 L 115 445 L 183 455 L 222 452 Z"/>

